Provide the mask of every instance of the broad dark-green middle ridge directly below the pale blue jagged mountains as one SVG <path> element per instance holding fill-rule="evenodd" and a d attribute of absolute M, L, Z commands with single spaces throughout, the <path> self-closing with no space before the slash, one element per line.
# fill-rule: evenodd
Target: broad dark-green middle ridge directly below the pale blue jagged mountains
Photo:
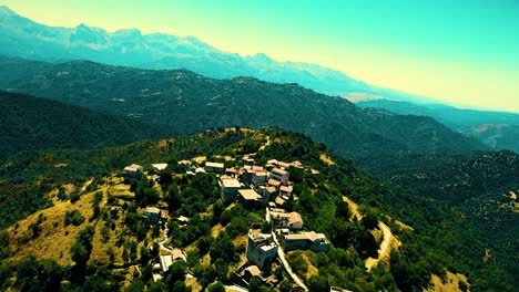
<path fill-rule="evenodd" d="M 189 71 L 150 71 L 93 62 L 42 63 L 0 58 L 4 88 L 172 126 L 279 126 L 349 157 L 482 149 L 428 117 L 358 108 L 296 84 L 252 77 L 213 80 Z M 26 69 L 26 70 L 22 70 Z"/>

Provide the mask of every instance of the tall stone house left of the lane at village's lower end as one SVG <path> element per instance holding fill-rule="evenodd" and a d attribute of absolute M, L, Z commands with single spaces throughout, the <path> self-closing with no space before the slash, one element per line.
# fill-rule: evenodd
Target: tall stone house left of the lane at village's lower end
<path fill-rule="evenodd" d="M 258 229 L 248 230 L 247 261 L 264 269 L 277 257 L 277 244 L 272 234 L 261 233 Z"/>

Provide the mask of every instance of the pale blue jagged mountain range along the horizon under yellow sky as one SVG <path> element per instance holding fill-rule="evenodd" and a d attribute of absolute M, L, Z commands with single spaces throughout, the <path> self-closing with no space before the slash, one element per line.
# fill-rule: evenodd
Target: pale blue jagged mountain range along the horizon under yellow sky
<path fill-rule="evenodd" d="M 142 34 L 136 29 L 109 33 L 83 23 L 75 28 L 48 27 L 7 7 L 0 7 L 0 54 L 41 61 L 90 60 L 141 69 L 187 69 L 213 79 L 252 76 L 268 82 L 298 83 L 337 96 L 366 93 L 403 101 L 425 100 L 372 86 L 317 64 L 277 62 L 263 53 L 241 56 L 224 52 L 194 36 Z"/>

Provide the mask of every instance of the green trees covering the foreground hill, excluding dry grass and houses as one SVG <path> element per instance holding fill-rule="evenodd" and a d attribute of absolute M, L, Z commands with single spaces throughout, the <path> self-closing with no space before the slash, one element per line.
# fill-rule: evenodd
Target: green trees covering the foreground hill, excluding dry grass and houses
<path fill-rule="evenodd" d="M 517 239 L 513 237 L 517 233 L 517 221 L 513 221 L 517 220 L 517 213 L 510 216 L 509 210 L 501 209 L 499 206 L 499 208 L 493 208 L 490 201 L 487 200 L 487 196 L 492 194 L 493 196 L 502 196 L 505 190 L 499 195 L 491 188 L 487 188 L 485 194 L 472 192 L 469 196 L 470 199 L 479 199 L 481 202 L 488 201 L 485 205 L 488 208 L 485 207 L 485 210 L 493 212 L 487 212 L 484 217 L 478 213 L 472 216 L 469 212 L 474 211 L 470 209 L 470 205 L 466 206 L 468 209 L 464 209 L 465 207 L 461 205 L 458 206 L 454 205 L 452 201 L 447 201 L 447 192 L 437 192 L 439 194 L 437 197 L 425 196 L 424 194 L 417 196 L 417 194 L 406 189 L 405 184 L 401 181 L 398 181 L 398 184 L 377 182 L 369 178 L 366 173 L 355 168 L 350 160 L 330 154 L 325 145 L 313 143 L 304 135 L 292 134 L 277 128 L 268 128 L 262 132 L 218 128 L 177 139 L 141 142 L 116 148 L 24 153 L 0 168 L 0 178 L 2 179 L 0 185 L 0 208 L 6 210 L 0 218 L 2 227 L 12 226 L 37 210 L 49 208 L 52 205 L 48 197 L 49 191 L 60 188 L 63 184 L 78 181 L 78 185 L 81 185 L 82 181 L 94 178 L 94 182 L 89 188 L 95 190 L 95 185 L 102 184 L 103 179 L 111 176 L 112 173 L 120 171 L 122 167 L 130 163 L 149 165 L 156 161 L 166 161 L 176 165 L 177 160 L 191 159 L 201 155 L 215 160 L 222 159 L 218 157 L 226 155 L 240 158 L 242 154 L 256 152 L 260 145 L 265 143 L 266 136 L 271 138 L 271 144 L 257 152 L 255 158 L 258 164 L 271 158 L 287 161 L 301 160 L 305 166 L 322 173 L 322 176 L 314 176 L 291 168 L 291 179 L 296 184 L 299 199 L 297 201 L 286 201 L 285 206 L 283 206 L 287 210 L 301 212 L 308 228 L 324 232 L 334 244 L 334 248 L 326 254 L 307 251 L 301 253 L 303 255 L 296 253 L 301 257 L 288 257 L 294 270 L 305 279 L 313 291 L 325 291 L 330 285 L 358 291 L 396 289 L 416 291 L 429 285 L 431 274 L 444 278 L 447 270 L 468 275 L 471 285 L 470 291 L 513 291 L 517 259 L 503 259 L 501 255 L 503 252 L 517 254 L 517 252 L 513 253 L 517 247 Z M 329 156 L 333 164 L 325 163 L 322 159 L 322 154 Z M 517 159 L 511 153 L 472 155 L 475 157 L 479 155 L 479 157 L 486 159 L 476 159 L 481 164 L 482 168 L 474 170 L 475 176 L 478 174 L 475 178 L 484 185 L 498 185 L 500 180 L 496 180 L 496 178 L 505 178 L 508 176 L 507 174 L 510 174 L 507 173 L 508 170 L 502 170 L 505 171 L 502 176 L 482 171 L 489 169 L 490 164 L 493 164 L 493 166 L 503 164 L 510 168 L 510 171 L 517 169 L 512 168 L 516 167 Z M 225 164 L 233 166 L 235 161 L 226 161 Z M 475 164 L 475 160 L 469 160 L 465 165 L 468 167 L 478 164 Z M 409 167 L 409 169 L 413 168 Z M 384 169 L 379 170 L 383 171 Z M 142 244 L 142 241 L 139 240 L 139 237 L 142 236 L 139 234 L 145 233 L 140 231 L 143 230 L 143 226 L 134 221 L 136 208 L 157 200 L 165 200 L 172 215 L 187 215 L 197 218 L 187 229 L 175 228 L 175 225 L 170 226 L 174 234 L 173 242 L 176 247 L 196 246 L 196 250 L 190 253 L 189 257 L 192 259 L 187 262 L 190 271 L 193 271 L 199 279 L 202 279 L 201 281 L 205 286 L 210 286 L 215 280 L 225 282 L 227 278 L 224 271 L 227 271 L 231 265 L 237 264 L 238 260 L 227 255 L 234 253 L 231 252 L 233 250 L 241 251 L 241 246 L 233 242 L 246 232 L 250 223 L 264 218 L 264 211 L 261 209 L 247 210 L 241 206 L 225 210 L 225 206 L 218 204 L 218 190 L 213 176 L 201 175 L 194 178 L 183 178 L 173 175 L 176 171 L 180 174 L 183 169 L 172 168 L 171 173 L 169 173 L 171 179 L 167 179 L 167 176 L 161 176 L 164 194 L 159 197 L 156 192 L 150 189 L 150 182 L 145 178 L 128 182 L 135 191 L 134 205 L 130 204 L 124 207 L 123 220 L 130 220 L 125 221 L 130 228 L 128 232 L 135 237 L 138 244 Z M 511 177 L 506 179 L 509 180 L 507 187 L 515 184 Z M 432 190 L 437 186 L 432 182 L 429 185 L 430 191 L 434 192 Z M 479 188 L 481 188 L 481 185 L 479 185 Z M 423 189 L 421 191 L 427 190 Z M 479 196 L 480 194 L 481 196 Z M 81 192 L 70 194 L 69 199 L 78 200 L 81 196 Z M 352 218 L 350 206 L 344 202 L 343 196 L 347 196 L 360 204 L 365 215 L 362 221 Z M 95 206 L 92 208 L 95 209 Z M 16 210 L 23 210 L 23 212 Z M 200 212 L 205 213 L 207 210 L 210 211 L 208 215 L 199 216 Z M 482 232 L 486 232 L 488 226 L 484 220 L 477 220 L 477 218 L 488 219 L 488 216 L 497 213 L 495 211 L 501 216 L 503 225 L 495 230 L 495 236 L 499 233 L 500 238 L 493 238 L 493 243 L 496 243 L 493 247 L 488 246 L 488 242 L 485 241 L 487 238 L 481 236 Z M 86 218 L 81 217 L 80 213 L 68 212 L 65 221 L 69 225 L 81 225 L 86 220 Z M 39 226 L 43 220 L 44 218 L 38 219 L 31 226 L 31 234 L 35 240 L 39 238 Z M 110 219 L 102 220 L 109 220 L 105 225 L 110 226 Z M 376 251 L 377 241 L 370 231 L 377 229 L 377 220 L 385 221 L 403 242 L 403 246 L 391 253 L 389 265 L 386 268 L 379 265 L 372 272 L 367 272 L 364 268 L 364 259 L 374 255 Z M 400 228 L 395 220 L 400 220 L 413 229 Z M 221 238 L 214 241 L 208 237 L 208 232 L 215 225 L 225 227 L 225 231 L 221 233 Z M 153 227 L 150 228 L 153 229 Z M 89 232 L 89 230 L 85 230 L 81 233 L 83 236 L 78 236 L 78 243 L 74 248 L 79 252 L 79 258 L 74 259 L 77 264 L 81 262 L 86 264 L 84 262 L 86 255 L 83 253 L 88 254 L 89 249 L 92 249 L 89 243 L 89 238 L 91 238 Z M 4 238 L 3 241 L 9 242 L 10 236 L 2 233 L 2 237 Z M 31 239 L 27 238 L 24 240 Z M 497 243 L 506 243 L 506 240 L 508 240 L 508 246 L 505 244 L 505 250 L 499 250 Z M 128 248 L 129 261 L 132 261 L 132 259 L 139 261 L 139 257 L 131 255 L 134 254 L 132 250 L 138 249 L 138 246 L 132 248 L 133 243 L 131 242 L 133 241 L 121 246 L 121 249 L 125 250 Z M 9 259 L 12 251 L 6 249 L 6 242 L 2 244 L 2 258 L 4 259 L 2 261 L 2 277 L 9 278 L 13 271 L 12 269 L 18 269 L 23 273 L 23 269 L 27 269 L 23 267 L 30 264 L 45 267 L 47 270 L 50 269 L 49 267 L 55 267 L 54 263 L 50 262 L 51 260 L 47 262 L 47 260 L 33 258 L 27 258 L 18 264 L 10 263 L 6 259 Z M 485 248 L 491 250 L 491 257 L 487 261 L 484 261 Z M 80 257 L 81 254 L 83 254 L 83 258 Z M 145 252 L 143 254 L 146 255 Z M 210 265 L 203 263 L 203 258 L 207 257 L 206 254 L 214 259 Z M 298 260 L 301 258 L 307 260 L 301 261 Z M 106 267 L 103 268 L 103 273 L 96 273 L 95 269 L 99 270 L 101 267 L 92 267 L 91 264 L 89 262 L 83 267 L 84 278 L 82 280 L 71 279 L 72 282 L 79 281 L 78 283 L 82 283 L 84 282 L 85 286 L 90 286 L 93 284 L 92 282 L 95 282 L 96 284 L 104 283 L 103 285 L 108 288 L 112 284 L 114 289 L 120 288 L 116 285 L 118 281 L 121 281 L 116 280 L 119 279 L 118 275 L 106 272 Z M 318 273 L 305 278 L 311 267 L 317 269 Z M 70 267 L 60 269 L 64 269 L 60 272 L 60 279 L 71 277 L 70 270 L 67 270 Z M 179 267 L 179 269 L 182 269 L 182 267 Z M 273 272 L 276 273 L 276 271 Z M 26 280 L 21 279 L 20 281 L 50 281 L 47 280 L 48 278 L 40 279 L 40 277 L 42 275 L 37 277 L 28 272 Z M 181 279 L 182 277 L 179 277 L 179 274 L 171 275 L 163 284 L 170 288 L 175 284 L 180 286 L 181 284 L 177 281 Z M 155 286 L 147 283 L 149 278 L 139 278 L 138 280 L 140 282 L 136 282 L 135 285 L 149 285 L 149 289 Z M 166 286 L 161 289 L 166 289 Z M 258 289 L 261 290 L 262 286 L 260 285 Z M 460 289 L 466 289 L 466 286 L 460 286 Z"/>

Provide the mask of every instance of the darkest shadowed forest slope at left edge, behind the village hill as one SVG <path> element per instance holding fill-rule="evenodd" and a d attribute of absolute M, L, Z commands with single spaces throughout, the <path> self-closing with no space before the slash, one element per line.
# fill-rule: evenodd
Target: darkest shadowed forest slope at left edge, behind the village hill
<path fill-rule="evenodd" d="M 104 148 L 173 134 L 170 127 L 24 94 L 0 92 L 0 160 L 23 150 Z"/>

